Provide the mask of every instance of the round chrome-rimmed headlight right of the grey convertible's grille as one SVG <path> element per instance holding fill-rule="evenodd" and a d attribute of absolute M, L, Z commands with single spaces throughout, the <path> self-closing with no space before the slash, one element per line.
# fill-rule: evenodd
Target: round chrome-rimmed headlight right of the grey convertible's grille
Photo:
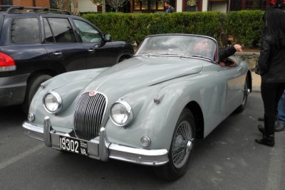
<path fill-rule="evenodd" d="M 133 120 L 132 107 L 124 100 L 118 100 L 110 108 L 110 118 L 118 126 L 128 125 Z"/>

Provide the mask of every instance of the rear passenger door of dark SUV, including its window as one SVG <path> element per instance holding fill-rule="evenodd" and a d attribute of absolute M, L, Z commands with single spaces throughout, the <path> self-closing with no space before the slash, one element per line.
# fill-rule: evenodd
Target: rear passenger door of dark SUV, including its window
<path fill-rule="evenodd" d="M 68 18 L 43 17 L 45 43 L 51 64 L 66 71 L 86 69 L 86 55 Z"/>

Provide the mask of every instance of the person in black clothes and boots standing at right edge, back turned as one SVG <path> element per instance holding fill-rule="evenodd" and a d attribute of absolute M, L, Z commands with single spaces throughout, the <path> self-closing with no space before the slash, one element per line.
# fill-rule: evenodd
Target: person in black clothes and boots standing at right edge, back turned
<path fill-rule="evenodd" d="M 258 126 L 259 144 L 274 147 L 274 127 L 279 99 L 285 90 L 285 12 L 284 0 L 271 1 L 264 15 L 261 51 L 255 72 L 261 75 L 261 97 L 264 102 L 264 127 Z"/>

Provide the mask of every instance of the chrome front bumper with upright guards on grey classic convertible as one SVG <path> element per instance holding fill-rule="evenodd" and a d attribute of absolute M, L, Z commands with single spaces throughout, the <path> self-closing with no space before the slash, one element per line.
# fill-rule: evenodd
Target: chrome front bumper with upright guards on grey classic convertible
<path fill-rule="evenodd" d="M 24 133 L 29 137 L 39 139 L 46 144 L 46 147 L 61 149 L 59 137 L 71 137 L 68 133 L 53 130 L 49 117 L 43 122 L 43 127 L 31 125 L 29 122 L 23 123 Z M 100 129 L 100 137 L 87 141 L 88 157 L 108 161 L 108 159 L 118 159 L 135 164 L 159 166 L 168 162 L 167 149 L 139 149 L 127 147 L 121 144 L 108 142 L 105 128 Z"/>

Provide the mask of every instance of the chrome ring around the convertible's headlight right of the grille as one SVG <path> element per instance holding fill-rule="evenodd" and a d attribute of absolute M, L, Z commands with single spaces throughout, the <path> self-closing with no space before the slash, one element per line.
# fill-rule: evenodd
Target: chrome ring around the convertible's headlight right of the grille
<path fill-rule="evenodd" d="M 118 120 L 113 117 L 113 109 L 115 105 L 122 106 L 122 108 L 125 109 L 125 112 L 123 112 L 123 114 L 125 114 L 128 118 L 124 122 L 118 122 Z M 130 107 L 130 104 L 125 100 L 118 100 L 113 103 L 113 105 L 110 107 L 110 120 L 117 126 L 127 126 L 133 120 L 133 109 Z"/>

